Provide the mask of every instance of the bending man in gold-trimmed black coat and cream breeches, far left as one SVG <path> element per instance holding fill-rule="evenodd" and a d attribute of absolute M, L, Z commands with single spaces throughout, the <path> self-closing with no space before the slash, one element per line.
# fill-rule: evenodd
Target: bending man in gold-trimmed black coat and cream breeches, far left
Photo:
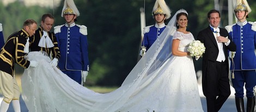
<path fill-rule="evenodd" d="M 15 112 L 20 112 L 20 88 L 15 79 L 15 63 L 27 69 L 38 66 L 36 61 L 28 61 L 25 54 L 29 52 L 28 37 L 34 35 L 37 23 L 34 20 L 26 20 L 23 28 L 11 34 L 0 53 L 0 89 L 4 96 L 0 111 L 5 112 L 13 103 Z"/>

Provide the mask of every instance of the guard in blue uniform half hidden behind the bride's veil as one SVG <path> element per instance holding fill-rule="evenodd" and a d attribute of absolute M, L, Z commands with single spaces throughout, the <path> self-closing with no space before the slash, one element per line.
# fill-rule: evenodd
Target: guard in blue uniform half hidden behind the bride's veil
<path fill-rule="evenodd" d="M 140 55 L 143 56 L 145 52 L 153 45 L 160 34 L 163 32 L 166 25 L 164 22 L 170 17 L 170 9 L 164 0 L 156 0 L 152 15 L 156 21 L 155 25 L 144 28 L 144 37 L 142 40 L 142 49 Z"/>

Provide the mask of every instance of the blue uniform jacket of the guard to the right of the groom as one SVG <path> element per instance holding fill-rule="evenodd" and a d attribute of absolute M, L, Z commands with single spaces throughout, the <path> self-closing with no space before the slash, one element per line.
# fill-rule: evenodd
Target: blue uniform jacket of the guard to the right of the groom
<path fill-rule="evenodd" d="M 230 29 L 226 27 L 227 30 L 230 30 L 229 35 L 236 44 L 234 70 L 256 70 L 256 57 L 254 53 L 256 46 L 255 25 L 256 23 L 245 21 L 233 24 L 233 26 L 230 26 Z M 233 70 L 233 65 L 230 65 L 230 70 Z"/>

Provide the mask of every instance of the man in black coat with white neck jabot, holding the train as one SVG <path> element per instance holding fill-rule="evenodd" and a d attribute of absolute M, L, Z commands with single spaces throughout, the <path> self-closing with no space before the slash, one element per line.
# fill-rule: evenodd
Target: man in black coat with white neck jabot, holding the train
<path fill-rule="evenodd" d="M 50 32 L 54 23 L 52 14 L 44 14 L 41 17 L 41 25 L 35 31 L 34 36 L 31 36 L 29 48 L 31 51 L 44 51 L 52 59 L 51 65 L 56 67 L 60 58 L 60 52 L 56 36 Z"/>

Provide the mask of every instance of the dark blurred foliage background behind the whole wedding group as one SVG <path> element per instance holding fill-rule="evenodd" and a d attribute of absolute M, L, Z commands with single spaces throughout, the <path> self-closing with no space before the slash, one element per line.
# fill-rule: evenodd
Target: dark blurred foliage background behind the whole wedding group
<path fill-rule="evenodd" d="M 22 1 L 8 5 L 0 2 L 0 22 L 3 24 L 5 40 L 13 32 L 20 30 L 23 21 L 27 18 L 33 18 L 40 24 L 41 15 L 44 13 L 54 15 L 54 26 L 64 24 L 64 18 L 60 16 L 63 2 L 59 6 L 54 6 L 53 9 L 39 5 L 26 7 Z M 138 61 L 141 41 L 139 10 L 145 5 L 145 26 L 155 24 L 151 15 L 155 1 L 74 0 L 74 2 L 80 11 L 76 23 L 88 28 L 90 71 L 87 85 L 121 85 Z M 219 2 L 222 9 L 221 27 L 224 27 L 228 25 L 228 1 L 220 0 Z M 247 2 L 252 9 L 247 20 L 255 21 L 256 2 L 253 0 L 247 0 Z M 166 3 L 172 10 L 172 15 L 181 8 L 187 10 L 189 20 L 187 30 L 195 38 L 199 30 L 209 26 L 207 13 L 214 9 L 214 0 L 166 0 Z M 200 59 L 194 61 L 196 71 L 201 69 L 201 61 Z M 16 72 L 22 73 L 23 69 L 16 66 Z"/>

